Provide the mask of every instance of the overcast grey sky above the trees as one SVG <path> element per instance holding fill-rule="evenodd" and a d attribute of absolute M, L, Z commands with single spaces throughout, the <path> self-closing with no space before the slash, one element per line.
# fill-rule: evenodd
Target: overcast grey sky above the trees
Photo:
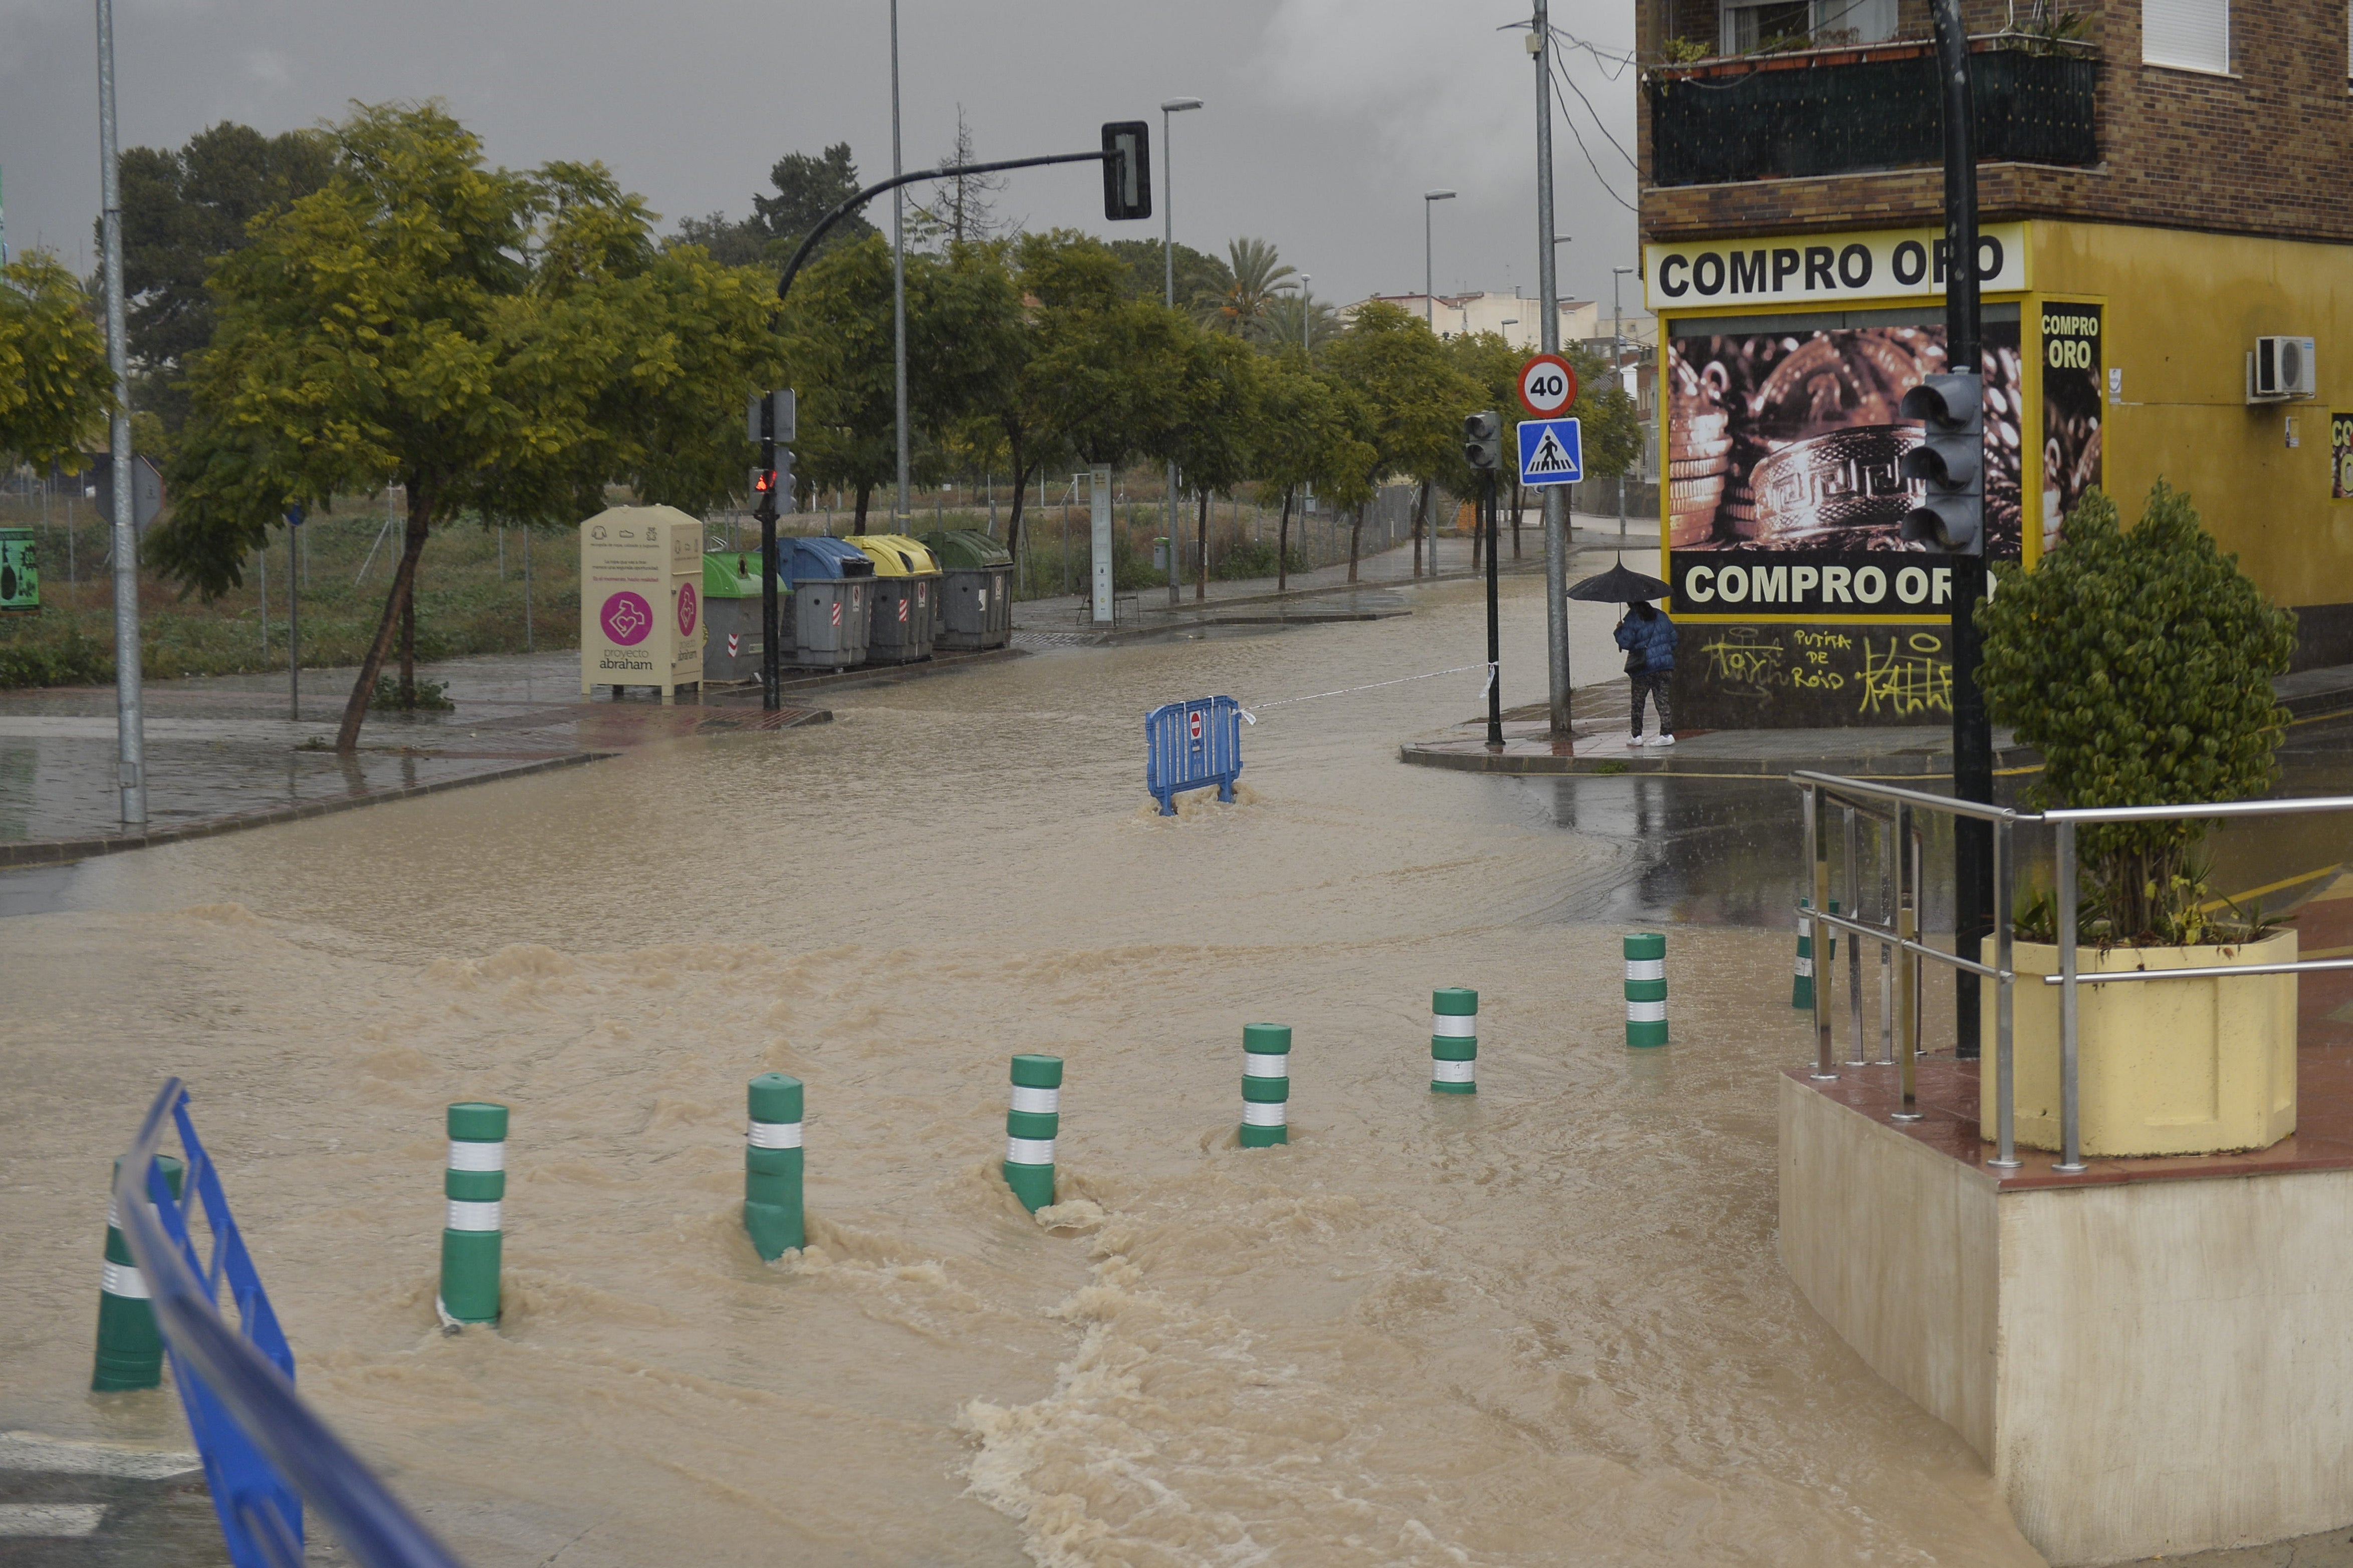
<path fill-rule="evenodd" d="M 887 0 L 118 0 L 122 141 L 438 96 L 496 162 L 598 158 L 666 221 L 744 214 L 786 150 L 847 139 L 861 174 L 889 172 L 887 16 Z M 1158 103 L 1200 96 L 1207 108 L 1176 118 L 1181 242 L 1273 240 L 1320 299 L 1419 292 L 1421 190 L 1452 186 L 1438 289 L 1534 294 L 1534 71 L 1522 35 L 1497 31 L 1525 16 L 1525 0 L 901 0 L 906 160 L 948 148 L 958 103 L 984 158 L 1016 158 L 1094 146 L 1113 118 L 1148 118 L 1158 139 Z M 1631 47 L 1624 0 L 1553 16 Z M 1633 75 L 1565 59 L 1631 150 Z M 1633 169 L 1569 108 L 1631 200 Z M 1633 261 L 1633 214 L 1558 118 L 1555 139 L 1558 228 L 1574 235 L 1562 292 L 1607 301 L 1609 266 Z M 9 249 L 42 242 L 87 268 L 89 0 L 0 0 L 0 179 Z M 1012 179 L 1007 216 L 1108 228 L 1092 172 Z M 1120 228 L 1158 235 L 1160 219 Z"/>

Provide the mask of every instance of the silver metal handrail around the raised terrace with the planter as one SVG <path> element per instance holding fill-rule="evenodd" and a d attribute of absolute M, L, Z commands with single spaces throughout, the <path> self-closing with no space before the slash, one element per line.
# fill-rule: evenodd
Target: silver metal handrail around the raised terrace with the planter
<path fill-rule="evenodd" d="M 1805 858 L 1812 865 L 1812 903 L 1798 905 L 1798 919 L 1807 922 L 1807 933 L 1814 952 L 1826 950 L 1828 931 L 1849 931 L 1854 936 L 1868 936 L 1882 945 L 1882 952 L 1897 954 L 1897 992 L 1904 1006 L 1897 1009 L 1897 1032 L 1901 1044 L 1897 1051 L 1899 1079 L 1901 1079 L 1901 1110 L 1894 1112 L 1897 1121 L 1918 1121 L 1918 1100 L 1913 1081 L 1913 1060 L 1920 1056 L 1920 1006 L 1918 1006 L 1918 959 L 1934 959 L 1951 969 L 1960 969 L 1995 983 L 1993 1004 L 1993 1105 L 1995 1105 L 1995 1157 L 1986 1164 L 2002 1171 L 2019 1168 L 2017 1157 L 2017 1081 L 2012 1065 L 2012 1001 L 2017 971 L 2012 969 L 2012 889 L 2009 872 L 2014 870 L 2014 846 L 2012 835 L 2019 823 L 2038 823 L 2052 830 L 2054 849 L 2054 879 L 2057 879 L 2057 947 L 2059 947 L 2059 973 L 2040 976 L 2042 985 L 2059 987 L 2059 1164 L 2054 1171 L 2075 1173 L 2085 1168 L 2082 1161 L 2082 1114 L 2080 1114 L 2080 1018 L 2078 1018 L 2078 987 L 2082 985 L 2113 985 L 2118 980 L 2224 980 L 2224 978 L 2252 978 L 2252 976 L 2285 976 L 2304 969 L 2329 971 L 2329 969 L 2353 969 L 2353 959 L 2297 959 L 2289 964 L 2207 964 L 2198 969 L 2122 969 L 2115 973 L 2082 973 L 2080 969 L 2080 933 L 2075 919 L 2078 900 L 2078 860 L 2075 860 L 2075 827 L 2099 825 L 2099 823 L 2162 823 L 2181 818 L 2242 818 L 2242 816 L 2304 816 L 2315 811 L 2353 811 L 2353 795 L 2306 795 L 2292 799 L 2233 799 L 2233 802 L 2202 802 L 2186 806 L 2059 806 L 2052 811 L 2012 811 L 2009 806 L 1988 806 L 1981 802 L 1953 799 L 1951 795 L 1929 795 L 1925 790 L 1904 790 L 1899 785 L 1871 783 L 1864 778 L 1842 778 L 1838 773 L 1817 773 L 1809 769 L 1798 769 L 1791 773 L 1791 783 L 1805 797 Z M 1852 889 L 1857 884 L 1857 839 L 1852 835 L 1852 802 L 1875 799 L 1894 804 L 1897 816 L 1897 844 L 1906 846 L 1908 853 L 1897 853 L 1894 865 L 1894 910 L 1889 922 L 1868 924 L 1854 919 L 1852 914 L 1828 912 L 1828 889 L 1831 889 L 1831 860 L 1828 860 L 1828 835 L 1824 832 L 1824 809 L 1831 799 L 1842 802 L 1849 818 L 1847 832 L 1847 889 L 1852 903 Z M 1920 870 L 1920 842 L 1918 830 L 1911 825 L 1913 811 L 1934 811 L 1939 816 L 1974 818 L 1993 825 L 1993 964 L 1981 964 L 1977 959 L 1965 959 L 1958 952 L 1944 952 L 1918 940 L 1918 917 L 1922 905 L 1922 870 Z M 1906 877 L 1906 867 L 1911 877 Z M 1852 959 L 1859 964 L 1859 957 Z M 1831 1018 L 1824 1009 L 1824 985 L 1817 966 L 1814 983 L 1814 1077 L 1835 1079 L 1838 1072 L 1831 1063 Z M 1857 1039 L 1861 1039 L 1861 990 L 1852 990 L 1854 1013 L 1857 1013 Z M 1861 1060 L 1861 1048 L 1857 1046 L 1857 1058 L 1852 1065 L 1866 1065 Z M 1885 1063 L 1880 1063 L 1885 1065 Z"/>

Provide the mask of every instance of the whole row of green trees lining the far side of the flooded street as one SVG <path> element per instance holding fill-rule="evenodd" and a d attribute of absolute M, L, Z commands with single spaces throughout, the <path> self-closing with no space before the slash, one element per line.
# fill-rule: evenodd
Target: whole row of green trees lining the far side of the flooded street
<path fill-rule="evenodd" d="M 969 139 L 960 160 L 972 162 Z M 125 268 L 139 440 L 172 512 L 148 559 L 198 595 L 242 583 L 289 505 L 398 489 L 405 534 L 344 715 L 358 745 L 398 649 L 414 693 L 414 585 L 461 515 L 567 527 L 609 487 L 704 512 L 741 494 L 744 397 L 795 386 L 798 484 L 847 487 L 859 522 L 894 473 L 892 266 L 842 226 L 776 301 L 784 254 L 856 188 L 847 146 L 776 165 L 751 219 L 661 237 L 600 165 L 492 167 L 440 106 L 355 108 L 318 132 L 221 125 L 125 153 Z M 1471 491 L 1461 416 L 1513 404 L 1518 355 L 1440 341 L 1365 306 L 1315 315 L 1273 247 L 1219 261 L 1158 242 L 993 233 L 991 188 L 946 181 L 908 259 L 911 435 L 939 473 L 1174 461 L 1207 534 L 1214 496 L 1289 515 L 1313 487 L 1358 508 L 1388 477 Z M 0 289 L 0 447 L 42 463 L 104 444 L 113 400 L 85 284 L 33 256 Z M 1624 393 L 1579 414 L 1595 473 L 1640 449 Z M 1424 508 L 1426 517 L 1426 508 Z M 1278 548 L 1278 555 L 1280 555 Z M 1353 555 L 1353 550 L 1351 550 Z"/>

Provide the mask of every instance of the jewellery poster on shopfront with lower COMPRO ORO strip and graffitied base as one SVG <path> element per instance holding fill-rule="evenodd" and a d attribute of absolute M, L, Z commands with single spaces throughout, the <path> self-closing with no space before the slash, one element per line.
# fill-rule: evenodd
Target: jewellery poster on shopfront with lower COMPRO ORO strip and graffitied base
<path fill-rule="evenodd" d="M 1944 324 L 1678 334 L 1668 343 L 1668 581 L 1685 623 L 1678 717 L 1701 729 L 1951 717 L 1951 567 L 1904 543 Z M 1986 552 L 2021 543 L 2019 324 L 1986 322 Z M 1697 621 L 1708 616 L 1708 621 Z M 1741 625 L 1753 616 L 1760 623 Z"/>

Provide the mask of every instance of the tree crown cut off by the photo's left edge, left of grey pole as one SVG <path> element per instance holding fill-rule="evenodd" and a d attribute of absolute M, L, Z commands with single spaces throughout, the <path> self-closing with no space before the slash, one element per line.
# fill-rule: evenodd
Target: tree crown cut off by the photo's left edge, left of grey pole
<path fill-rule="evenodd" d="M 82 284 L 49 252 L 21 252 L 0 268 L 0 451 L 80 468 L 113 409 L 106 336 Z"/>

